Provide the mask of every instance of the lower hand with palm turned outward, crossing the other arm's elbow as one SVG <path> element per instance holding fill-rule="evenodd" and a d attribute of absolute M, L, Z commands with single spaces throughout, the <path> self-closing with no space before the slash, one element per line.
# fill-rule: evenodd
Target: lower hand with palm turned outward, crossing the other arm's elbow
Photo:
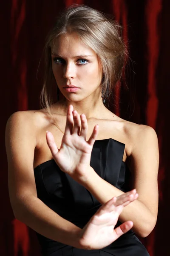
<path fill-rule="evenodd" d="M 102 249 L 129 231 L 133 227 L 132 221 L 126 221 L 115 229 L 114 227 L 123 208 L 136 198 L 138 194 L 133 189 L 103 204 L 80 231 L 81 247 L 86 250 Z"/>

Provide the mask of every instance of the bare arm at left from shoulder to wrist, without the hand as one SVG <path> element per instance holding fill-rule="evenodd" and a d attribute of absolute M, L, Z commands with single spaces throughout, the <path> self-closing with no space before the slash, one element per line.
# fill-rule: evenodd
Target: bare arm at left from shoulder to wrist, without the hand
<path fill-rule="evenodd" d="M 14 215 L 37 233 L 79 248 L 78 233 L 81 229 L 37 198 L 33 169 L 37 140 L 33 115 L 27 111 L 16 112 L 6 125 L 8 188 Z"/>

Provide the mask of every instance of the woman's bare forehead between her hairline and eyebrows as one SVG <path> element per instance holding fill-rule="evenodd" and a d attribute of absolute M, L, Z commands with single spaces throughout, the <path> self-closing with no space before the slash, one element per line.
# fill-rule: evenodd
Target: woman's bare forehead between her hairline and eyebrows
<path fill-rule="evenodd" d="M 91 47 L 86 45 L 77 34 L 60 35 L 55 39 L 51 46 L 51 52 L 61 56 L 94 55 Z"/>

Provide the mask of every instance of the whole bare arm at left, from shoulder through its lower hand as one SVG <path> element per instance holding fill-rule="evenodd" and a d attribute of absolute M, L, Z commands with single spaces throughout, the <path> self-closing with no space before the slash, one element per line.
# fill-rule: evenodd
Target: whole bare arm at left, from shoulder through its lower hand
<path fill-rule="evenodd" d="M 87 250 L 105 247 L 130 230 L 132 221 L 114 227 L 123 207 L 138 197 L 136 191 L 106 202 L 83 229 L 59 216 L 37 198 L 33 169 L 36 125 L 36 113 L 29 111 L 14 113 L 6 125 L 8 187 L 15 217 L 42 236 Z"/>

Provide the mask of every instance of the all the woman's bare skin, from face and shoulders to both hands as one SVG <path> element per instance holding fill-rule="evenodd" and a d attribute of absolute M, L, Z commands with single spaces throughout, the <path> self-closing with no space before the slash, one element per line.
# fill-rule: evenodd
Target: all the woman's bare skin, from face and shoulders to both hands
<path fill-rule="evenodd" d="M 87 64 L 82 57 L 80 60 L 82 55 L 90 55 L 83 57 Z M 64 135 L 44 109 L 17 112 L 8 120 L 8 184 L 16 218 L 43 236 L 77 248 L 105 247 L 132 227 L 139 236 L 147 236 L 156 224 L 158 209 L 159 150 L 155 131 L 127 122 L 105 108 L 100 88 L 102 67 L 95 52 L 76 35 L 61 36 L 51 56 L 54 77 L 65 96 L 65 102 L 57 102 L 51 110 Z M 68 93 L 63 89 L 65 84 L 80 89 Z M 94 141 L 105 138 L 126 145 L 123 161 L 133 173 L 131 192 L 112 186 L 90 166 Z M 37 198 L 33 168 L 52 158 L 102 204 L 82 230 Z M 114 229 L 118 218 L 122 225 Z"/>

